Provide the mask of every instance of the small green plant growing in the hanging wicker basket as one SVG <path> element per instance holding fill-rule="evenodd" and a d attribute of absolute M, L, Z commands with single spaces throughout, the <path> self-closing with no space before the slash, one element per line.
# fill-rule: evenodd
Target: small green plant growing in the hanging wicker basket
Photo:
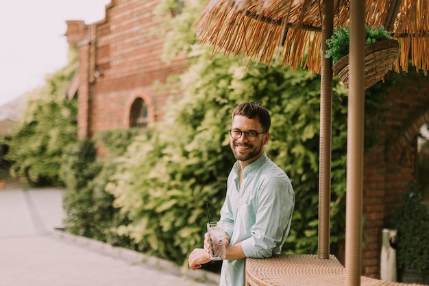
<path fill-rule="evenodd" d="M 382 26 L 365 28 L 365 45 L 391 39 L 392 36 Z M 325 58 L 332 58 L 334 64 L 347 56 L 350 45 L 350 28 L 337 27 L 334 29 L 332 36 L 326 40 L 326 45 L 328 45 L 328 49 L 326 49 Z"/>

